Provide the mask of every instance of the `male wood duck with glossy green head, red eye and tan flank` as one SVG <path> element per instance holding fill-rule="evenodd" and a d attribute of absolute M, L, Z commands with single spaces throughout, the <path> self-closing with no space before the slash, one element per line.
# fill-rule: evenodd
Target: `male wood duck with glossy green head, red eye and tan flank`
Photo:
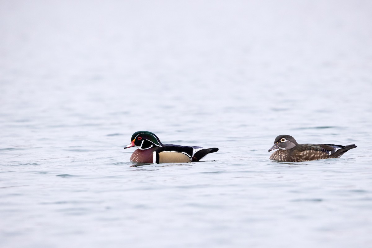
<path fill-rule="evenodd" d="M 136 146 L 131 156 L 132 162 L 141 163 L 182 163 L 196 162 L 205 155 L 217 152 L 218 148 L 202 148 L 200 146 L 182 146 L 161 144 L 159 138 L 148 131 L 138 131 L 133 133 L 131 144 L 124 149 Z"/>

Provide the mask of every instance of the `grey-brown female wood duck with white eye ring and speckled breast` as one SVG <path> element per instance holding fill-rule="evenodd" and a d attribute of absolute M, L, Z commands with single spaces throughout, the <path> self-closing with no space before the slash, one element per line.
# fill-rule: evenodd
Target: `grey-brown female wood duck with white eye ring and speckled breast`
<path fill-rule="evenodd" d="M 289 135 L 279 135 L 275 138 L 274 145 L 269 152 L 275 149 L 270 156 L 270 160 L 283 162 L 302 162 L 325 158 L 339 158 L 350 149 L 356 148 L 355 145 L 320 145 L 320 144 L 298 144 Z"/>

